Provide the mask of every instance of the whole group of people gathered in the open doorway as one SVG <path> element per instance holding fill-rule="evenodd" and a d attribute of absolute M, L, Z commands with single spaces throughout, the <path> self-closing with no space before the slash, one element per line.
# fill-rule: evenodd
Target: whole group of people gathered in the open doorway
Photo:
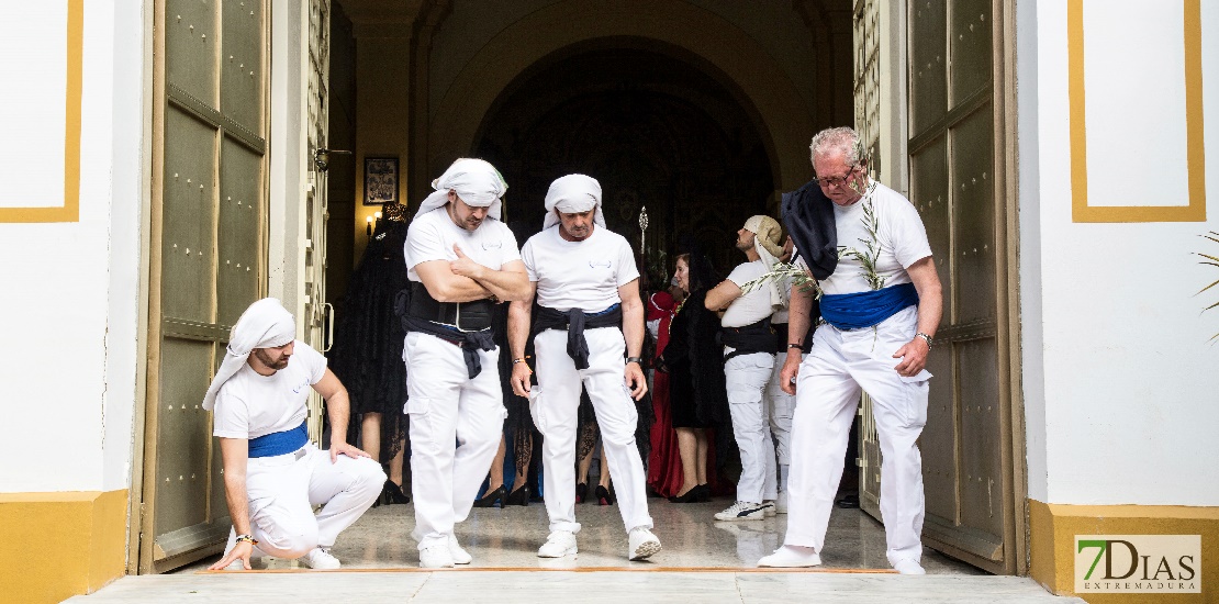
<path fill-rule="evenodd" d="M 889 559 L 922 573 L 915 440 L 940 283 L 918 212 L 868 177 L 859 149 L 850 128 L 818 133 L 817 177 L 784 195 L 783 223 L 745 221 L 741 264 L 720 278 L 691 246 L 653 292 L 606 227 L 595 178 L 556 179 L 541 231 L 519 244 L 500 220 L 500 172 L 457 160 L 413 220 L 378 226 L 347 298 L 360 318 L 340 325 L 329 367 L 274 299 L 234 327 L 204 403 L 233 519 L 213 569 L 268 555 L 340 567 L 339 532 L 406 502 L 422 567 L 472 561 L 453 530 L 472 508 L 538 499 L 550 519 L 538 555 L 573 555 L 595 450 L 591 499 L 618 506 L 629 560 L 662 549 L 649 494 L 731 495 L 716 521 L 789 515 L 759 566 L 816 566 L 865 389 Z M 327 401 L 328 454 L 304 430 L 306 387 Z"/>

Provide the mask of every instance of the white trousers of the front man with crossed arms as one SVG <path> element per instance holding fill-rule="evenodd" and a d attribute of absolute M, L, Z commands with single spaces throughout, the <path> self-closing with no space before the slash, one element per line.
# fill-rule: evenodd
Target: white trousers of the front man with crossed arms
<path fill-rule="evenodd" d="M 483 371 L 471 379 L 461 347 L 427 333 L 406 334 L 411 534 L 419 549 L 447 543 L 453 525 L 469 517 L 500 447 L 507 417 L 496 365 L 500 351 L 478 354 Z"/>

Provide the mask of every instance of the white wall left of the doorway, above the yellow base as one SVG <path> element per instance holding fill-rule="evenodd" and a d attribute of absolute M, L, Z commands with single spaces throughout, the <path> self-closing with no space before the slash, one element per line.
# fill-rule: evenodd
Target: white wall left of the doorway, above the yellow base
<path fill-rule="evenodd" d="M 138 2 L 119 5 L 84 2 L 79 221 L 0 222 L 0 458 L 7 460 L 0 464 L 0 492 L 108 491 L 130 480 L 145 28 Z M 66 32 L 65 11 L 29 6 L 20 18 L 10 12 L 9 27 L 43 22 Z M 48 43 L 62 48 L 66 37 Z M 66 81 L 62 52 L 22 55 L 38 78 Z M 12 109 L 11 94 L 4 99 L 0 129 L 22 123 L 63 139 L 62 87 L 40 99 L 59 111 L 30 115 Z M 0 182 L 33 184 L 55 198 L 43 205 L 62 205 L 62 161 L 4 164 Z M 0 207 L 34 205 L 13 196 L 16 189 L 0 193 Z"/>

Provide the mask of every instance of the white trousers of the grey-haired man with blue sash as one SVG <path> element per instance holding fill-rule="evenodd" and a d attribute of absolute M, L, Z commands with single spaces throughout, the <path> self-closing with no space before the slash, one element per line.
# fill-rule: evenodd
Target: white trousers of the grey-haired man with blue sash
<path fill-rule="evenodd" d="M 813 353 L 801 364 L 796 383 L 786 544 L 817 552 L 825 544 L 862 389 L 872 397 L 880 437 L 880 511 L 889 560 L 922 558 L 923 459 L 917 440 L 926 423 L 931 375 L 924 370 L 902 377 L 894 371 L 900 360 L 892 358 L 914 338 L 917 325 L 918 311 L 909 306 L 875 331 L 817 329 Z"/>

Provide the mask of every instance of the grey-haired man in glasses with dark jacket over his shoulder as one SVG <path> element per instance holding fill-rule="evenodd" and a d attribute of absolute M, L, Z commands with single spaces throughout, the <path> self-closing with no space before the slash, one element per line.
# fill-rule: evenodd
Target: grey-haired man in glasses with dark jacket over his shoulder
<path fill-rule="evenodd" d="M 851 421 L 867 390 L 884 459 L 880 511 L 889 563 L 903 575 L 922 575 L 917 440 L 926 423 L 931 375 L 924 366 L 942 312 L 940 278 L 918 211 L 869 181 L 858 134 L 822 131 L 811 149 L 817 179 L 784 195 L 783 215 L 820 284 L 825 325 L 814 332 L 807 359 L 790 348 L 784 361 L 780 383 L 797 397 L 787 534 L 758 566 L 820 564 Z M 811 303 L 812 294 L 792 290 L 789 345 L 801 344 Z"/>

